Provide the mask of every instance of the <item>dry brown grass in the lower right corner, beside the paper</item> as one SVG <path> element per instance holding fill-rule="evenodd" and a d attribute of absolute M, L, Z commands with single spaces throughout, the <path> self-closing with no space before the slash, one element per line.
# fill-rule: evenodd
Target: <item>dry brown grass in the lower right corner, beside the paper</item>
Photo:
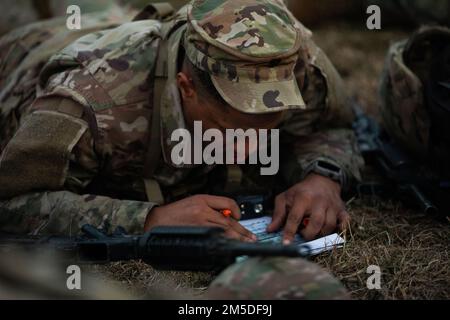
<path fill-rule="evenodd" d="M 401 204 L 367 200 L 349 205 L 346 246 L 315 262 L 357 299 L 449 299 L 450 228 Z M 381 290 L 366 286 L 369 265 L 381 269 Z"/>

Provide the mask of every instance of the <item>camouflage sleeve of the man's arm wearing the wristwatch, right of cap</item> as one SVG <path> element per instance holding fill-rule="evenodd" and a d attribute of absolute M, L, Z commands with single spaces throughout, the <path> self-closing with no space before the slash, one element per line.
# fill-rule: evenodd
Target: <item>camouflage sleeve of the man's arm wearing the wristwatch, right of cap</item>
<path fill-rule="evenodd" d="M 306 110 L 290 112 L 281 127 L 283 177 L 300 182 L 313 163 L 322 161 L 344 174 L 343 190 L 361 179 L 363 160 L 351 130 L 353 112 L 342 80 L 325 54 L 307 42 L 295 73 Z"/>

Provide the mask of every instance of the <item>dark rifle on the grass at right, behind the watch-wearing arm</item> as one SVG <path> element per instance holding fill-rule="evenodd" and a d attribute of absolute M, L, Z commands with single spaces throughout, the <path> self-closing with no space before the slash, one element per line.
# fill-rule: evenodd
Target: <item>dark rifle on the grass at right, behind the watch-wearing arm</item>
<path fill-rule="evenodd" d="M 372 117 L 354 103 L 355 132 L 359 149 L 368 164 L 372 164 L 386 183 L 364 182 L 357 186 L 359 195 L 397 198 L 434 217 L 449 218 L 449 181 L 424 177 L 421 166 L 402 150 Z"/>

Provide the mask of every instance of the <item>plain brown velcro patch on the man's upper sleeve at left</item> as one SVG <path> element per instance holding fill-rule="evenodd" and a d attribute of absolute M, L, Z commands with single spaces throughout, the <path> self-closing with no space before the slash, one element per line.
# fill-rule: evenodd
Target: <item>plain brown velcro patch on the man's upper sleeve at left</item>
<path fill-rule="evenodd" d="M 87 128 L 83 120 L 54 111 L 27 116 L 0 159 L 0 198 L 60 189 L 70 153 Z"/>

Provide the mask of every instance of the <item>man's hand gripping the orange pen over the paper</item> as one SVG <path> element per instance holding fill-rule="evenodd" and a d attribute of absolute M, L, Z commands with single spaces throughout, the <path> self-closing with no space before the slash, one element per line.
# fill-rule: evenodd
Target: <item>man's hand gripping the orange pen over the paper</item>
<path fill-rule="evenodd" d="M 227 218 L 220 210 L 230 209 Z M 210 195 L 196 195 L 165 206 L 153 208 L 147 215 L 144 230 L 156 226 L 204 226 L 220 227 L 225 236 L 241 241 L 254 242 L 256 236 L 245 229 L 238 220 L 241 213 L 232 199 Z"/>

